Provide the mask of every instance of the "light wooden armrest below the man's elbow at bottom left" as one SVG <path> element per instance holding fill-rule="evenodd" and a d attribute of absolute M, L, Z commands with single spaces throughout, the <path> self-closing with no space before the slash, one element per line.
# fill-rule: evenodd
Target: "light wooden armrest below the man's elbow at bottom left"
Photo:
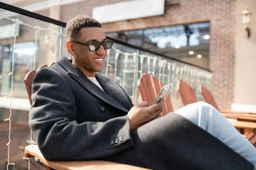
<path fill-rule="evenodd" d="M 26 146 L 25 153 L 25 156 L 35 156 L 44 164 L 56 170 L 148 170 L 109 161 L 47 161 L 35 144 Z"/>

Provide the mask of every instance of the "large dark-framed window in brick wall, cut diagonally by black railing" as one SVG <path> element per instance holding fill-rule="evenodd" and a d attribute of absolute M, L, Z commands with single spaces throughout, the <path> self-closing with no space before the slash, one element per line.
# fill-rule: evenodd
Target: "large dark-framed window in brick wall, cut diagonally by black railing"
<path fill-rule="evenodd" d="M 121 31 L 106 36 L 208 68 L 209 22 Z"/>

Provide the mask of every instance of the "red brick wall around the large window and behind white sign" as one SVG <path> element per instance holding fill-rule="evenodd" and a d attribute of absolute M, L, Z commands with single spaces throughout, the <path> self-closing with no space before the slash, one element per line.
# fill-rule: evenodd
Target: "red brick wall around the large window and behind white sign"
<path fill-rule="evenodd" d="M 72 6 L 65 5 L 61 8 L 61 20 L 67 22 L 77 15 L 91 16 L 93 7 L 123 1 L 126 0 L 87 0 Z M 166 4 L 174 2 L 166 0 Z M 209 69 L 214 72 L 212 90 L 219 108 L 230 109 L 234 99 L 235 11 L 235 0 L 180 0 L 179 6 L 166 6 L 162 16 L 102 26 L 105 32 L 114 32 L 210 21 Z"/>

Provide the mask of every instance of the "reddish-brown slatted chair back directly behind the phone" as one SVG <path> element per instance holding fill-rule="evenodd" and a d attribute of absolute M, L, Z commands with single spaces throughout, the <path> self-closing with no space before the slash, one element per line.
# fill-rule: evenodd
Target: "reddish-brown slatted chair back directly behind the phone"
<path fill-rule="evenodd" d="M 148 105 L 154 103 L 162 87 L 163 83 L 159 82 L 156 77 L 149 76 L 147 73 L 142 74 L 140 79 L 138 79 L 138 88 L 141 98 L 144 102 L 148 102 Z M 166 97 L 165 107 L 161 115 L 168 112 L 173 112 L 170 96 Z"/>

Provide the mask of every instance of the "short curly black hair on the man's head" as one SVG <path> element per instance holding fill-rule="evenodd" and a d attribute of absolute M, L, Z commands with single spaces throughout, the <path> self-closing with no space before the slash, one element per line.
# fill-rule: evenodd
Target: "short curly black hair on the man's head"
<path fill-rule="evenodd" d="M 67 40 L 72 40 L 78 37 L 82 28 L 98 27 L 102 28 L 99 21 L 87 15 L 79 15 L 68 21 L 66 26 Z"/>

